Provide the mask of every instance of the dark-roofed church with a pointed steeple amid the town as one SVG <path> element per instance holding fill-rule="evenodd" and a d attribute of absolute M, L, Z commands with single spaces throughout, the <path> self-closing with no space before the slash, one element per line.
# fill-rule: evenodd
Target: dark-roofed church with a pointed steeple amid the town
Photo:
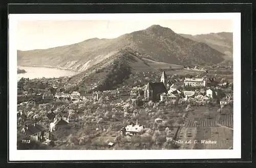
<path fill-rule="evenodd" d="M 167 94 L 167 77 L 163 71 L 160 82 L 148 82 L 144 88 L 144 101 L 159 101 L 162 93 Z"/>

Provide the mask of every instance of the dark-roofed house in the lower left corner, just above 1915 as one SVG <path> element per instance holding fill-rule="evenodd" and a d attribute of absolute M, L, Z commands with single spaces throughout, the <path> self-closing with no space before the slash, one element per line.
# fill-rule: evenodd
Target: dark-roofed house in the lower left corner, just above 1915
<path fill-rule="evenodd" d="M 33 139 L 36 139 L 37 141 L 44 141 L 44 134 L 46 129 L 36 123 L 32 125 L 25 125 L 25 127 L 22 129 L 22 132 L 31 136 Z"/>

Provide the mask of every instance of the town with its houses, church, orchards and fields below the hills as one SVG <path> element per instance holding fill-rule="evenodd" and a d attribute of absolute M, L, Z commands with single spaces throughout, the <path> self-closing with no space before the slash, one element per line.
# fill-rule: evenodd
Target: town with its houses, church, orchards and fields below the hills
<path fill-rule="evenodd" d="M 231 149 L 233 83 L 200 71 L 104 91 L 65 88 L 72 76 L 21 78 L 17 148 Z M 190 140 L 218 143 L 173 143 Z"/>

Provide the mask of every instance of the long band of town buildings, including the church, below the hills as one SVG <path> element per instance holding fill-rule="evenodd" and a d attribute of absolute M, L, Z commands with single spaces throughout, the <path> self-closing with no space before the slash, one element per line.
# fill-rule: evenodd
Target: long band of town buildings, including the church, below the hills
<path fill-rule="evenodd" d="M 52 101 L 56 98 L 56 102 L 71 103 L 77 100 L 99 100 L 101 96 L 116 98 L 121 97 L 137 99 L 138 96 L 142 97 L 144 101 L 170 101 L 184 98 L 187 100 L 189 97 L 194 98 L 198 95 L 207 96 L 208 98 L 218 98 L 221 99 L 224 96 L 219 93 L 217 89 L 208 89 L 206 87 L 209 82 L 212 82 L 214 78 L 209 78 L 207 80 L 206 76 L 198 76 L 197 78 L 185 78 L 173 79 L 171 81 L 167 80 L 166 74 L 163 71 L 161 75 L 160 82 L 148 82 L 144 88 L 134 87 L 134 88 L 118 88 L 116 90 L 108 91 L 95 91 L 93 93 L 77 92 L 74 91 L 71 94 L 56 93 L 54 96 L 49 92 L 49 90 L 38 90 L 30 88 L 28 90 L 28 95 L 40 98 L 44 102 Z M 222 83 L 221 85 L 226 85 Z M 186 90 L 186 87 L 200 88 L 201 91 L 197 90 Z M 202 89 L 205 89 L 202 91 Z M 222 102 L 229 101 L 229 98 L 222 99 Z"/>

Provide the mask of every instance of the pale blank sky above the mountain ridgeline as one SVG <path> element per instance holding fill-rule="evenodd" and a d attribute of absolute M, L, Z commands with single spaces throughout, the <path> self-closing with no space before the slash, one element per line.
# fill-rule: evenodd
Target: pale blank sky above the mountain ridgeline
<path fill-rule="evenodd" d="M 46 49 L 91 38 L 116 38 L 153 24 L 178 34 L 232 32 L 232 20 L 23 20 L 17 22 L 17 49 Z"/>

